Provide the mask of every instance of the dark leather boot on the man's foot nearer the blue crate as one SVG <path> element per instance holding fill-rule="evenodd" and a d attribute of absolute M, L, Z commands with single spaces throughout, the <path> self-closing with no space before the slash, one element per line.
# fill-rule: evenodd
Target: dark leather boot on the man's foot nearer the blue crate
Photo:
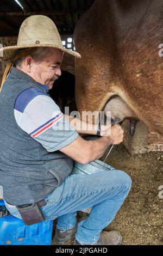
<path fill-rule="evenodd" d="M 74 228 L 67 230 L 56 229 L 53 242 L 55 245 L 70 245 L 76 236 L 77 225 Z"/>

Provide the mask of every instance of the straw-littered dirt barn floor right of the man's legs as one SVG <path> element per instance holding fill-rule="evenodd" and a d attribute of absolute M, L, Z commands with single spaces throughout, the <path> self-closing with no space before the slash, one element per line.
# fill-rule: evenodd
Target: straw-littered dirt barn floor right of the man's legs
<path fill-rule="evenodd" d="M 122 245 L 163 245 L 163 199 L 158 196 L 159 186 L 163 185 L 163 153 L 130 156 L 123 145 L 116 145 L 106 162 L 125 170 L 133 186 L 105 230 L 121 231 Z"/>

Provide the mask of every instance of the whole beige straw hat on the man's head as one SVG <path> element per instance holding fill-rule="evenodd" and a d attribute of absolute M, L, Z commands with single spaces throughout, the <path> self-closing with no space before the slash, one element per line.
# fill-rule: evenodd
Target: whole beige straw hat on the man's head
<path fill-rule="evenodd" d="M 14 60 L 17 50 L 21 48 L 53 47 L 81 58 L 76 51 L 71 51 L 62 45 L 62 41 L 54 22 L 47 16 L 33 15 L 23 21 L 18 34 L 17 45 L 0 49 L 2 60 Z M 25 50 L 25 49 L 24 49 Z"/>

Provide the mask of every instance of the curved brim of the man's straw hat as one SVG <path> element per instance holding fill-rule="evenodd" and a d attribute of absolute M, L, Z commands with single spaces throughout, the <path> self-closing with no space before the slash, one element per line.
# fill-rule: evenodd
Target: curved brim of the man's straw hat
<path fill-rule="evenodd" d="M 71 54 L 72 56 L 76 58 L 81 58 L 81 55 L 72 50 L 68 50 L 67 48 L 63 46 L 58 45 L 50 45 L 50 44 L 38 44 L 38 45 L 20 45 L 20 46 L 7 46 L 0 48 L 0 58 L 1 60 L 7 61 L 7 60 L 14 60 L 14 57 L 17 54 L 17 50 L 21 48 L 34 48 L 34 47 L 49 47 L 49 48 L 57 48 L 63 52 L 66 52 L 68 54 Z"/>

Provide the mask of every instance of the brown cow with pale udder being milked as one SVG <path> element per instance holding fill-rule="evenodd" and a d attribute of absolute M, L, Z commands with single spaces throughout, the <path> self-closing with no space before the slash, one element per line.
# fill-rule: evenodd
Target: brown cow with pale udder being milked
<path fill-rule="evenodd" d="M 162 0 L 95 0 L 74 29 L 76 103 L 163 135 Z M 83 119 L 85 119 L 83 115 Z"/>

